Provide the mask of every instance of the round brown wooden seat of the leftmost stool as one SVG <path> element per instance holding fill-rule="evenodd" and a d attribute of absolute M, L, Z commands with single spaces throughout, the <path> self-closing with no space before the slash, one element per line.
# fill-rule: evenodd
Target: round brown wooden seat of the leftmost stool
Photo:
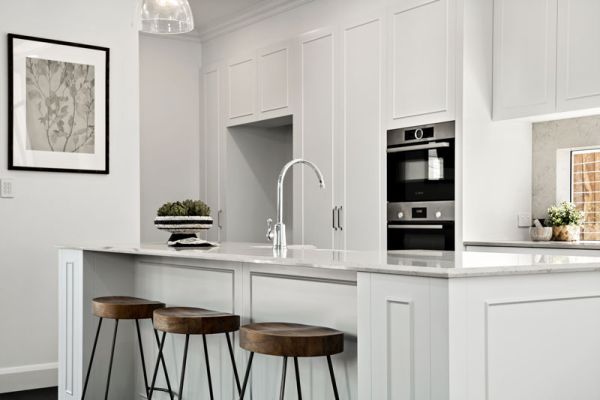
<path fill-rule="evenodd" d="M 152 318 L 154 310 L 163 308 L 159 301 L 138 299 L 127 296 L 97 297 L 92 300 L 92 312 L 95 316 L 109 319 L 147 319 Z"/>

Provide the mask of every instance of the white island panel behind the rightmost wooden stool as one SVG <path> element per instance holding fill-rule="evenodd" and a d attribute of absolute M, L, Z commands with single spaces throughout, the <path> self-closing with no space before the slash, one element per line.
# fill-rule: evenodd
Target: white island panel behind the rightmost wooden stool
<path fill-rule="evenodd" d="M 332 357 L 340 398 L 358 400 L 356 273 L 343 270 L 244 264 L 244 316 L 252 322 L 293 322 L 338 329 L 344 352 Z M 299 359 L 303 399 L 333 398 L 325 358 Z M 288 365 L 286 399 L 296 399 L 293 363 Z M 252 395 L 274 398 L 282 359 L 257 355 Z"/>

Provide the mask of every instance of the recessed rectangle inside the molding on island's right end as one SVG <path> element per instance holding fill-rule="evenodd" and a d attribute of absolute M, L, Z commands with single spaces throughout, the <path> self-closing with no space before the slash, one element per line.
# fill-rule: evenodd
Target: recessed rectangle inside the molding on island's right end
<path fill-rule="evenodd" d="M 487 399 L 600 397 L 600 321 L 586 317 L 600 294 L 491 300 L 485 311 Z"/>

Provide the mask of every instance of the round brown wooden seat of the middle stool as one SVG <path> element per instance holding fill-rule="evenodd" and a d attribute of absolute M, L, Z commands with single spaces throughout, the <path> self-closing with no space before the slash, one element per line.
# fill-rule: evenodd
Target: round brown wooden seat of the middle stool
<path fill-rule="evenodd" d="M 203 308 L 167 307 L 154 311 L 154 327 L 168 333 L 211 335 L 237 331 L 240 317 Z"/>

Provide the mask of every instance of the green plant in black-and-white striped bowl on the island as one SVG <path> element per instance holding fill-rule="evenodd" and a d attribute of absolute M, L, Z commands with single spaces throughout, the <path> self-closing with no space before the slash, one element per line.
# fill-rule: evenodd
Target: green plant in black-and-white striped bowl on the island
<path fill-rule="evenodd" d="M 197 233 L 213 225 L 210 207 L 201 200 L 184 200 L 163 204 L 156 212 L 154 225 L 171 233 L 169 245 L 197 238 Z"/>

